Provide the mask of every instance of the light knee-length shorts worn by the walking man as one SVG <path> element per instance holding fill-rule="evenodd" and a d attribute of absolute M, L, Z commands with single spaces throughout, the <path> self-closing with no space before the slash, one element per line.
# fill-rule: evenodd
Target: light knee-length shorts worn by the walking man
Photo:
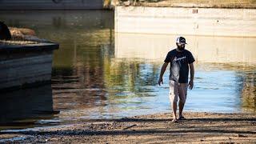
<path fill-rule="evenodd" d="M 170 91 L 169 98 L 170 102 L 178 102 L 178 98 L 180 102 L 186 102 L 186 94 L 187 94 L 187 83 L 178 83 L 170 80 Z"/>

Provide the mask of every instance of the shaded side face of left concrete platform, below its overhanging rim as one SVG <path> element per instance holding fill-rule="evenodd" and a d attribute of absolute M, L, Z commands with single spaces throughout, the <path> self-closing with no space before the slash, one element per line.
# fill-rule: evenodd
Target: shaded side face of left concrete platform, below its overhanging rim
<path fill-rule="evenodd" d="M 52 52 L 0 61 L 0 90 L 51 79 Z"/>

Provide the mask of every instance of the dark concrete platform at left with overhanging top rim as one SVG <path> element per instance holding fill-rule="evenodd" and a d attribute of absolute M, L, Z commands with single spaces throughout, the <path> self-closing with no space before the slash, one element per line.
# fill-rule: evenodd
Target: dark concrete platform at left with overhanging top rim
<path fill-rule="evenodd" d="M 0 45 L 0 90 L 50 81 L 54 49 L 57 44 Z"/>

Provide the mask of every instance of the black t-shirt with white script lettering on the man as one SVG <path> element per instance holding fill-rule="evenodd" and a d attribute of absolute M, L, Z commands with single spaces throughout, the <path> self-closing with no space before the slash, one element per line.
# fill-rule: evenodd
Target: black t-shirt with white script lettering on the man
<path fill-rule="evenodd" d="M 170 80 L 178 83 L 187 83 L 189 76 L 189 64 L 194 62 L 194 57 L 189 50 L 178 52 L 170 50 L 165 62 L 170 62 Z"/>

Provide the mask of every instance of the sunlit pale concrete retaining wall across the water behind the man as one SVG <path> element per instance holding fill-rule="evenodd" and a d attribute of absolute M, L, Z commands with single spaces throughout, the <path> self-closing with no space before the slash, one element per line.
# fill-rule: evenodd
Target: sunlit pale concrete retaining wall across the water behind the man
<path fill-rule="evenodd" d="M 117 6 L 115 32 L 256 37 L 256 9 Z"/>

